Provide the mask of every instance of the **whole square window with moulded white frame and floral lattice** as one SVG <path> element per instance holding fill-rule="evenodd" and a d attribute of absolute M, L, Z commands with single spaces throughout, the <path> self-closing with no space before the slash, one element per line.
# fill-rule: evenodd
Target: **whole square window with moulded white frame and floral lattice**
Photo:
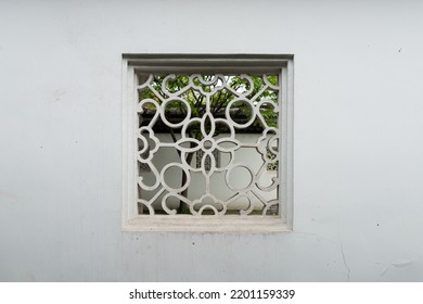
<path fill-rule="evenodd" d="M 123 230 L 292 229 L 292 55 L 123 64 Z"/>

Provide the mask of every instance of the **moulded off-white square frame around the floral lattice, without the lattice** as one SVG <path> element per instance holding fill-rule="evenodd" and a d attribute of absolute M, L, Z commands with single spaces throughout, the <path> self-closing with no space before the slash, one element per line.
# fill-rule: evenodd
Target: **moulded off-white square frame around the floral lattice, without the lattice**
<path fill-rule="evenodd" d="M 293 229 L 293 55 L 286 54 L 124 54 L 123 55 L 123 231 L 282 232 Z M 136 72 L 278 72 L 280 176 L 279 216 L 193 217 L 138 214 Z"/>

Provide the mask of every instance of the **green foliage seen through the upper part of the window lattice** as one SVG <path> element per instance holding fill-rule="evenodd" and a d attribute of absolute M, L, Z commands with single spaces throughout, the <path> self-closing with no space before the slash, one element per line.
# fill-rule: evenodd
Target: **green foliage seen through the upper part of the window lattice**
<path fill-rule="evenodd" d="M 203 83 L 208 83 L 214 78 L 214 75 L 202 75 Z M 254 99 L 254 102 L 257 103 L 261 100 L 269 100 L 269 102 L 264 103 L 260 107 L 260 113 L 266 121 L 266 124 L 270 127 L 277 127 L 278 124 L 278 114 L 274 113 L 274 109 L 272 104 L 278 103 L 278 91 L 272 89 L 265 89 L 265 81 L 261 76 L 251 76 L 254 88 L 252 92 L 247 96 L 248 99 Z M 140 92 L 140 99 L 153 99 L 157 103 L 162 103 L 162 99 L 167 99 L 165 91 L 162 89 L 163 81 L 165 76 L 155 75 L 152 81 L 152 89 L 144 89 Z M 268 81 L 271 85 L 278 85 L 278 76 L 267 76 Z M 240 93 L 244 93 L 251 90 L 251 84 L 247 79 L 243 79 L 241 76 L 226 76 L 227 84 L 229 87 Z M 217 91 L 210 97 L 210 112 L 215 117 L 221 117 L 225 115 L 225 111 L 227 105 L 236 98 L 230 90 L 226 88 L 219 89 L 222 85 L 221 80 L 217 81 L 217 84 L 204 85 L 200 81 L 198 78 L 193 79 L 194 88 L 190 88 L 180 94 L 180 98 L 188 101 L 191 107 L 191 117 L 203 117 L 206 113 L 206 98 L 202 93 L 211 92 L 217 88 Z M 175 93 L 183 90 L 187 86 L 189 86 L 190 76 L 189 75 L 178 75 L 175 78 L 170 78 L 166 81 L 166 90 L 170 93 Z M 144 110 L 146 112 L 154 111 L 154 105 L 151 103 L 146 103 L 144 105 Z M 165 114 L 168 112 L 168 115 L 171 116 L 171 113 L 180 113 L 182 115 L 187 114 L 185 105 L 181 102 L 175 101 L 169 102 L 165 109 Z M 232 116 L 233 115 L 233 116 Z M 248 102 L 235 102 L 231 105 L 231 117 L 236 122 L 236 119 L 248 121 L 252 115 L 252 105 Z M 257 118 L 253 126 L 256 127 L 265 127 L 262 123 Z M 227 127 L 221 124 L 217 126 L 216 132 L 214 136 L 217 136 L 221 132 L 227 131 Z M 190 137 L 202 139 L 202 134 L 200 131 L 200 125 L 192 125 L 189 128 Z"/>

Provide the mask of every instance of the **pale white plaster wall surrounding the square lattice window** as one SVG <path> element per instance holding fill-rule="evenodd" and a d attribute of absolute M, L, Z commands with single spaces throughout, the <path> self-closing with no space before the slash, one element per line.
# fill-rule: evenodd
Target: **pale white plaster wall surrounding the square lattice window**
<path fill-rule="evenodd" d="M 423 3 L 317 2 L 1 1 L 0 280 L 423 281 Z M 294 232 L 120 231 L 129 52 L 295 55 Z"/>

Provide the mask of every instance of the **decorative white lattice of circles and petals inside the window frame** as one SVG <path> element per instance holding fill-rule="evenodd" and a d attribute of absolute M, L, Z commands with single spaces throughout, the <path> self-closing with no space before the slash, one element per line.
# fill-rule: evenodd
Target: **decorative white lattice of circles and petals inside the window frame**
<path fill-rule="evenodd" d="M 268 210 L 279 204 L 278 193 L 274 191 L 279 186 L 278 174 L 275 173 L 270 185 L 261 185 L 261 176 L 266 174 L 269 164 L 279 160 L 278 150 L 272 149 L 280 136 L 277 126 L 280 90 L 277 76 L 150 74 L 144 83 L 139 84 L 138 90 L 138 111 L 141 114 L 138 162 L 148 164 L 155 179 L 154 185 L 149 186 L 144 182 L 142 172 L 140 173 L 138 185 L 142 213 L 154 215 L 159 211 L 168 215 L 268 215 Z M 148 124 L 142 124 L 142 118 L 145 118 L 143 114 L 150 116 Z M 168 129 L 172 135 L 172 142 L 163 142 L 156 137 L 158 123 L 161 128 Z M 261 130 L 255 142 L 242 142 L 238 139 L 238 130 L 252 132 L 254 129 Z M 156 154 L 162 149 L 174 149 L 179 160 L 157 168 L 155 157 L 158 157 Z M 236 159 L 236 151 L 240 149 L 249 149 L 249 153 L 260 156 L 258 169 L 251 164 L 254 156 Z M 272 157 L 269 157 L 270 149 Z M 150 153 L 145 157 L 146 151 Z M 189 162 L 190 155 L 198 151 L 202 151 L 200 168 Z M 229 162 L 219 166 L 214 156 L 217 152 L 228 153 Z M 169 185 L 168 180 L 175 179 L 175 174 L 171 176 L 169 169 L 181 172 L 181 185 Z M 238 175 L 233 173 L 235 170 Z M 211 191 L 210 183 L 216 173 L 225 173 L 225 181 L 232 192 L 230 197 L 219 198 Z M 190 199 L 187 190 L 195 174 L 203 175 L 205 191 Z M 249 180 L 235 186 L 234 179 L 240 179 L 240 174 L 247 175 Z M 149 191 L 154 192 L 154 195 L 146 200 L 143 194 Z M 273 192 L 273 195 L 266 198 L 264 193 L 267 192 Z M 179 201 L 178 207 L 169 206 L 168 202 L 172 199 Z M 245 207 L 231 207 L 234 202 L 242 200 L 248 202 Z M 261 206 L 255 205 L 254 200 L 258 200 Z"/>

